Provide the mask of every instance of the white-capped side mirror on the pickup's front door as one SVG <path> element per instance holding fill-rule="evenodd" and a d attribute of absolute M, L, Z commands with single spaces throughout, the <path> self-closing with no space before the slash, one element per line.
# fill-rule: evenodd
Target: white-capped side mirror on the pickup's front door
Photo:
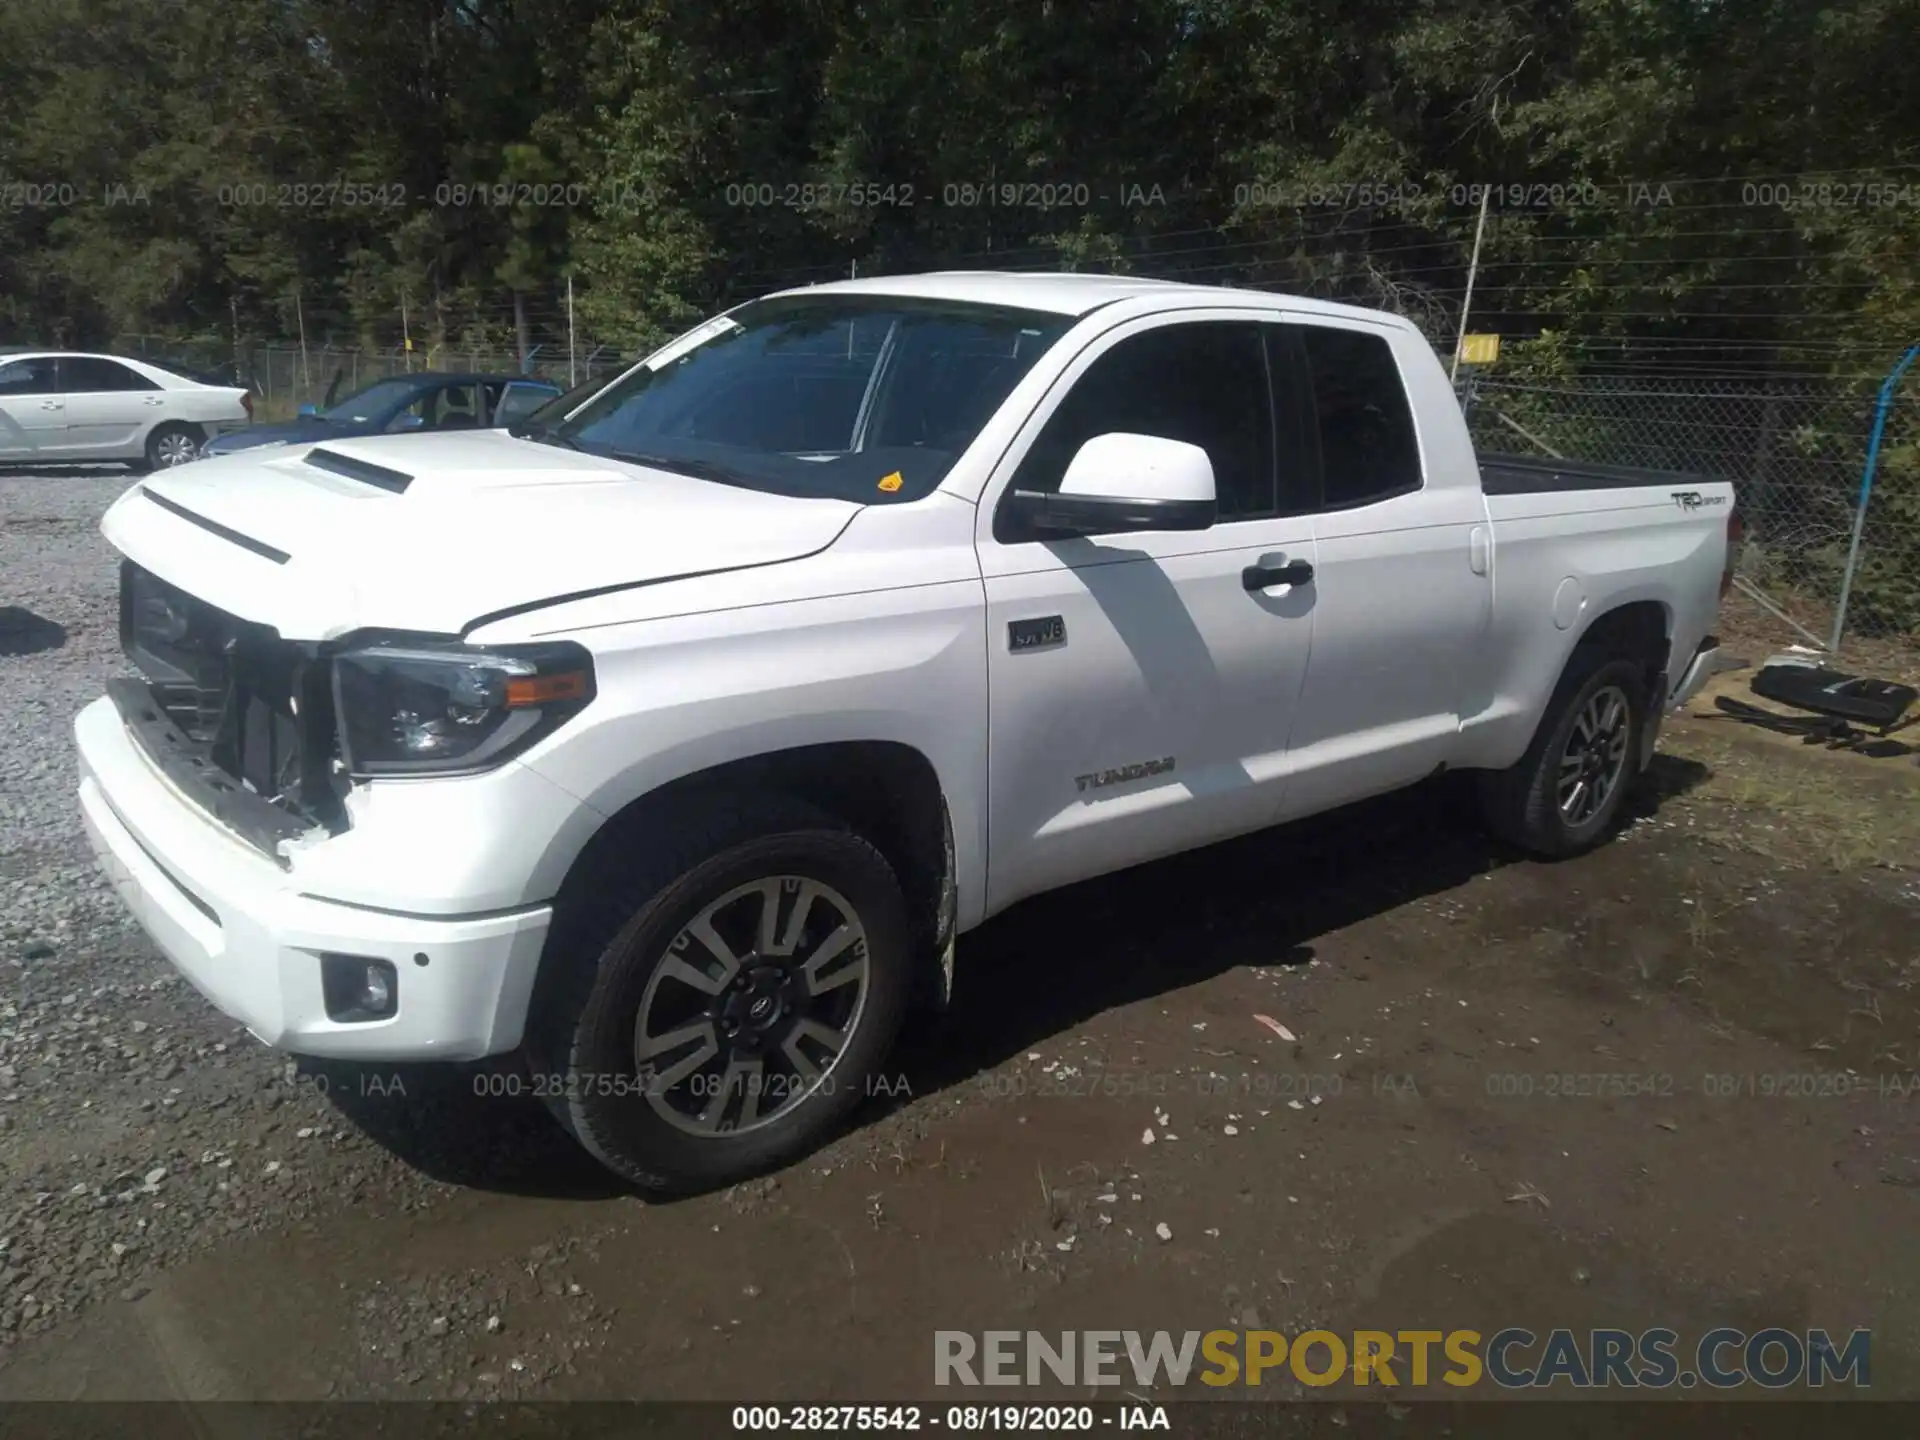
<path fill-rule="evenodd" d="M 1056 536 L 1208 530 L 1219 515 L 1200 445 L 1123 430 L 1081 445 L 1058 492 L 1016 490 L 1012 501 L 1021 520 Z"/>

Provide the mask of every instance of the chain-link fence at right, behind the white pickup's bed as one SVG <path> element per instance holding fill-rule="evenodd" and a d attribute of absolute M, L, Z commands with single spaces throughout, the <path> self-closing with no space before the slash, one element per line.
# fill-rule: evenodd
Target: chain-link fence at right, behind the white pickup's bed
<path fill-rule="evenodd" d="M 1740 584 L 1828 643 L 1874 419 L 1872 388 L 1818 382 L 1463 372 L 1480 449 L 1732 480 L 1747 524 Z M 1887 415 L 1847 634 L 1920 641 L 1920 401 Z"/>

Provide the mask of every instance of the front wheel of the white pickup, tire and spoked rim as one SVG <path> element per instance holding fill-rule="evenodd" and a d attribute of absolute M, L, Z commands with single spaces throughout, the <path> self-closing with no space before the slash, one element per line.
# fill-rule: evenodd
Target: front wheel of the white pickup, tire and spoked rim
<path fill-rule="evenodd" d="M 810 806 L 762 801 L 660 835 L 586 887 L 597 918 L 557 929 L 528 1060 L 601 1164 L 701 1190 L 803 1154 L 874 1089 L 914 941 L 887 860 Z"/>

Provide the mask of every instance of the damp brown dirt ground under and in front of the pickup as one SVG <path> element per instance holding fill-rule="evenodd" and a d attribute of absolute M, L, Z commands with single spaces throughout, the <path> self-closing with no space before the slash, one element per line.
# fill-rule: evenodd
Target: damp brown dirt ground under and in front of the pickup
<path fill-rule="evenodd" d="M 1920 768 L 1688 718 L 1651 780 L 1565 864 L 1440 783 L 1029 902 L 895 1094 L 724 1194 L 616 1194 L 470 1071 L 303 1073 L 284 1223 L 23 1331 L 0 1398 L 925 1400 L 937 1329 L 1715 1323 L 1870 1327 L 1916 1396 Z"/>

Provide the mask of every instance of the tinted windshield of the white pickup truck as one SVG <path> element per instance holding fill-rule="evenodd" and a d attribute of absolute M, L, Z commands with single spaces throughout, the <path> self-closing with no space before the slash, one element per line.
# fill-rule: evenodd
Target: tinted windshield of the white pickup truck
<path fill-rule="evenodd" d="M 762 300 L 532 434 L 785 495 L 918 499 L 1071 324 L 897 296 Z"/>

